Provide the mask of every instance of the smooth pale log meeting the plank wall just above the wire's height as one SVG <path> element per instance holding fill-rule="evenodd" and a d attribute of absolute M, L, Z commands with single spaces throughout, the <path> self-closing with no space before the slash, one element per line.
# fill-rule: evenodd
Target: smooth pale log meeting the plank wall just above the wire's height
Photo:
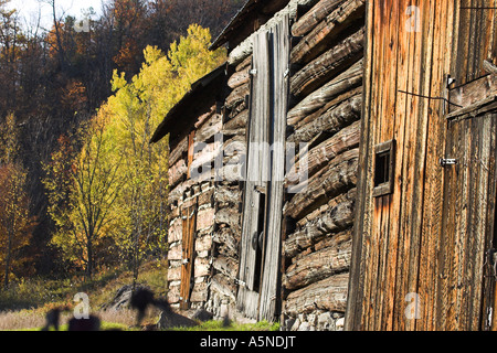
<path fill-rule="evenodd" d="M 362 84 L 362 60 L 353 64 L 345 73 L 338 75 L 330 83 L 315 90 L 288 111 L 288 125 L 296 125 L 299 120 L 322 108 L 328 101 L 350 92 Z"/>

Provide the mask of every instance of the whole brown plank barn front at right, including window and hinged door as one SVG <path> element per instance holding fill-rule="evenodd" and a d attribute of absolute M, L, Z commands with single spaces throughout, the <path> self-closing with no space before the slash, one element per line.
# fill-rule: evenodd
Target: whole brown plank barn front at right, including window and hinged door
<path fill-rule="evenodd" d="M 367 2 L 347 330 L 495 330 L 497 12 Z"/>

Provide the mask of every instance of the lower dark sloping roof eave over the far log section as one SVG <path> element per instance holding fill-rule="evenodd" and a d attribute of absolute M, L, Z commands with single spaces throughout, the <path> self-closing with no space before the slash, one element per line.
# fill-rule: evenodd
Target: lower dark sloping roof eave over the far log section
<path fill-rule="evenodd" d="M 193 125 L 198 117 L 209 111 L 212 103 L 219 100 L 225 81 L 225 64 L 210 72 L 191 85 L 190 90 L 172 107 L 157 128 L 150 143 L 160 141 L 170 133 L 170 141 L 177 141 L 188 132 L 187 127 Z"/>

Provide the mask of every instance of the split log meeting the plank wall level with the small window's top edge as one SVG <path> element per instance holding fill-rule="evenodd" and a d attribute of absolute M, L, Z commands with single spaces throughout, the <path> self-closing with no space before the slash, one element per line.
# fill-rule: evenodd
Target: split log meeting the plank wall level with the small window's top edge
<path fill-rule="evenodd" d="M 359 147 L 361 122 L 356 121 L 352 125 L 338 131 L 328 140 L 321 142 L 311 149 L 305 159 L 305 168 L 309 176 L 314 175 L 319 169 L 327 164 L 337 156 Z M 296 183 L 299 180 L 300 161 L 297 161 L 286 175 L 286 185 Z"/>

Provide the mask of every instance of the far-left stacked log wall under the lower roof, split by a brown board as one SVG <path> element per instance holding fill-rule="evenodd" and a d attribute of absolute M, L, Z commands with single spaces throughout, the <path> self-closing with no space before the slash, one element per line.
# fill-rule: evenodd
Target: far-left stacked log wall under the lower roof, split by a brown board
<path fill-rule="evenodd" d="M 193 280 L 190 290 L 190 307 L 204 308 L 209 299 L 209 286 L 213 263 L 214 239 L 214 191 L 212 169 L 218 150 L 215 133 L 222 128 L 222 117 L 215 105 L 200 116 L 191 131 L 194 131 L 193 154 L 189 161 L 189 135 L 171 146 L 169 160 L 169 207 L 170 226 L 168 235 L 168 300 L 172 307 L 180 303 L 183 227 L 181 210 L 195 205 Z M 184 131 L 184 132 L 191 132 Z M 190 167 L 190 168 L 189 168 Z M 189 170 L 190 169 L 190 170 Z"/>

